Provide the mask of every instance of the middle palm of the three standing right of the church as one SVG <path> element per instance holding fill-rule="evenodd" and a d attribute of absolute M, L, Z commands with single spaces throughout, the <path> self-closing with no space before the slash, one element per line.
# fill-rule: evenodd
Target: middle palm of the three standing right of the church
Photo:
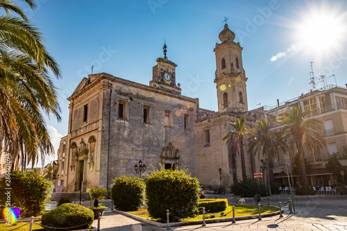
<path fill-rule="evenodd" d="M 273 182 L 273 160 L 278 158 L 278 149 L 285 151 L 285 143 L 281 139 L 279 132 L 270 130 L 273 122 L 271 120 L 261 119 L 255 124 L 255 131 L 248 139 L 248 152 L 255 153 L 260 157 L 260 153 L 267 157 L 269 163 L 269 179 Z"/>

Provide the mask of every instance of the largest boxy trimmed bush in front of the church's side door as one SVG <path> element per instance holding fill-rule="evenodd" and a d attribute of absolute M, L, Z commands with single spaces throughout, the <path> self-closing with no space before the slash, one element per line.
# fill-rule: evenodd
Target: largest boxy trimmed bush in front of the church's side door
<path fill-rule="evenodd" d="M 151 172 L 146 181 L 149 216 L 164 220 L 170 214 L 188 217 L 197 212 L 199 183 L 185 171 L 160 169 Z"/>

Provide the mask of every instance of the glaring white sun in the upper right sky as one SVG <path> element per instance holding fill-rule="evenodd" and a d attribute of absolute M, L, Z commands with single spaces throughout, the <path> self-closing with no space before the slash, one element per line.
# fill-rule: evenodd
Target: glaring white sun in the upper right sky
<path fill-rule="evenodd" d="M 306 12 L 296 26 L 296 40 L 301 49 L 325 55 L 341 49 L 346 37 L 346 14 L 328 8 Z"/>

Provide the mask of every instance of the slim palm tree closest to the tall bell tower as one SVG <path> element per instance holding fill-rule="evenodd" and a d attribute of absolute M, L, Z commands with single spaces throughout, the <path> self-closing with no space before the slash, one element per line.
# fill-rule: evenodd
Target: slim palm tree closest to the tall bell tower
<path fill-rule="evenodd" d="M 234 121 L 230 122 L 229 125 L 234 128 L 230 130 L 226 137 L 223 137 L 223 141 L 227 144 L 231 142 L 232 153 L 241 155 L 241 168 L 242 168 L 242 179 L 246 180 L 246 163 L 244 162 L 244 137 L 246 137 L 251 129 L 246 126 L 246 117 L 242 116 L 239 119 L 234 117 Z M 234 179 L 235 180 L 235 179 Z"/>

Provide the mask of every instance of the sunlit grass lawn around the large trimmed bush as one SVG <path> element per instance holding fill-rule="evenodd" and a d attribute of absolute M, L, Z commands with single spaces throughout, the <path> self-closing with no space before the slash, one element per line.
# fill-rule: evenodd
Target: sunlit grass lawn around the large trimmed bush
<path fill-rule="evenodd" d="M 241 212 L 241 213 L 237 212 L 236 210 Z M 262 207 L 261 207 L 262 214 L 268 214 L 270 212 L 278 212 L 278 211 L 280 211 L 279 208 L 272 207 L 272 206 L 263 206 L 262 205 Z M 209 214 L 206 213 L 205 219 L 219 219 L 219 218 L 232 217 L 232 205 L 228 205 L 228 207 L 226 207 L 226 210 L 224 210 L 222 212 L 223 212 L 223 214 L 227 214 L 227 215 L 221 216 L 221 212 L 210 212 L 210 214 L 213 214 L 215 217 L 213 217 L 213 215 L 210 216 Z M 246 214 L 244 214 L 245 212 L 246 212 Z M 135 216 L 141 216 L 145 219 L 158 221 L 158 219 L 151 219 L 151 217 L 149 217 L 149 213 L 147 212 L 147 209 L 138 209 L 137 211 L 131 211 L 128 213 L 133 214 Z M 235 205 L 235 216 L 249 216 L 249 215 L 256 215 L 256 214 L 259 214 L 259 210 L 258 210 L 257 205 Z M 180 221 L 199 221 L 202 219 L 203 219 L 203 215 L 201 214 L 201 215 L 198 215 L 196 217 L 181 219 Z"/>

